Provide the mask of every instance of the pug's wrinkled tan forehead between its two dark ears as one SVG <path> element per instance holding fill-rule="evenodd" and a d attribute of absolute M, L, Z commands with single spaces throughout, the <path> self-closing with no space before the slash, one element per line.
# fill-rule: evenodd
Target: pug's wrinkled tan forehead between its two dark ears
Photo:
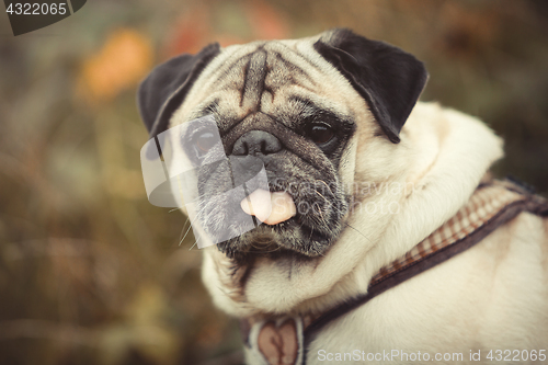
<path fill-rule="evenodd" d="M 367 112 L 363 98 L 315 49 L 316 38 L 255 42 L 224 48 L 202 72 L 171 126 L 206 114 L 242 121 L 262 112 L 284 118 L 302 107 L 347 118 Z"/>

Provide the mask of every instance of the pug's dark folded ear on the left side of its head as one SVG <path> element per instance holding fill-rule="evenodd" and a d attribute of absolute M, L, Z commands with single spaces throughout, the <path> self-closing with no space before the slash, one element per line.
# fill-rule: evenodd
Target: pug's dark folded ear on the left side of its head
<path fill-rule="evenodd" d="M 181 55 L 157 66 L 140 83 L 137 93 L 139 112 L 151 137 L 168 128 L 173 112 L 209 61 L 219 54 L 210 44 L 197 55 Z"/>

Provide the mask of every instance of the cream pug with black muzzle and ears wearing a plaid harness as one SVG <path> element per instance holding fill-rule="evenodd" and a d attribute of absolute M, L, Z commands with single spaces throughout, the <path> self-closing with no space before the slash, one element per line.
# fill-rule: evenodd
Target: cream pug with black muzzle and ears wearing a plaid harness
<path fill-rule="evenodd" d="M 488 178 L 501 138 L 419 102 L 426 80 L 414 56 L 332 30 L 213 44 L 141 83 L 152 137 L 216 128 L 172 149 L 202 161 L 203 280 L 249 364 L 546 361 L 548 205 Z M 266 187 L 230 193 L 258 171 Z"/>

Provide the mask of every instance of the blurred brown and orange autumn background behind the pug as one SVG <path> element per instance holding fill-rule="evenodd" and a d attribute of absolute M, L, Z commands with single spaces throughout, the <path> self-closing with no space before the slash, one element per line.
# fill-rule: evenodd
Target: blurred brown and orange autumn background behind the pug
<path fill-rule="evenodd" d="M 545 0 L 95 0 L 18 37 L 2 14 L 0 364 L 239 364 L 189 223 L 147 201 L 136 88 L 214 41 L 334 26 L 424 60 L 422 100 L 486 121 L 506 140 L 495 174 L 546 195 Z"/>

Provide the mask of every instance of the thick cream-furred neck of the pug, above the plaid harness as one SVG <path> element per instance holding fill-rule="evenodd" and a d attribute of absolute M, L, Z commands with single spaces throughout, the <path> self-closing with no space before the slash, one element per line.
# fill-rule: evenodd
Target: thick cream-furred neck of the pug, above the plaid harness
<path fill-rule="evenodd" d="M 358 147 L 356 166 L 362 170 L 356 171 L 356 181 L 367 176 L 410 186 L 399 194 L 380 190 L 363 201 L 398 206 L 397 212 L 354 210 L 327 254 L 308 263 L 261 258 L 252 267 L 235 266 L 215 247 L 205 249 L 204 281 L 216 305 L 237 317 L 313 313 L 366 293 L 383 266 L 455 215 L 502 156 L 502 142 L 489 128 L 436 104 L 415 106 L 400 145 L 384 142 Z M 387 163 L 388 157 L 396 162 Z M 385 163 L 383 169 L 375 166 L 379 163 Z M 398 174 L 401 171 L 407 172 Z"/>

